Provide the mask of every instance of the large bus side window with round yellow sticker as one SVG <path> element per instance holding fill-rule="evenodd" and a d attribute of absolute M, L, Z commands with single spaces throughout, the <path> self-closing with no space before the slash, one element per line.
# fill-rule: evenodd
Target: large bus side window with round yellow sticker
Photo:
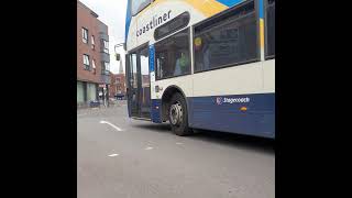
<path fill-rule="evenodd" d="M 260 61 L 254 0 L 195 26 L 195 72 Z"/>

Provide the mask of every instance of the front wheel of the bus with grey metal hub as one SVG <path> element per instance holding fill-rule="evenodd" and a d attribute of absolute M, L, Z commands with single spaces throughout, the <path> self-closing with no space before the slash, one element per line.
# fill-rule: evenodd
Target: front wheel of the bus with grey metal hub
<path fill-rule="evenodd" d="M 191 134 L 191 130 L 188 128 L 186 100 L 180 94 L 176 92 L 173 96 L 168 112 L 169 124 L 175 134 L 180 136 Z"/>

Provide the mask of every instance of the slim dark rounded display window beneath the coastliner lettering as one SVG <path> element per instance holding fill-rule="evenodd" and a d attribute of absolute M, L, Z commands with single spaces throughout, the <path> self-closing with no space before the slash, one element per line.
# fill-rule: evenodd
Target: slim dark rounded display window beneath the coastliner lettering
<path fill-rule="evenodd" d="M 172 21 L 167 22 L 166 24 L 163 24 L 162 26 L 157 28 L 154 32 L 154 38 L 160 40 L 168 34 L 172 34 L 185 26 L 187 26 L 189 22 L 189 13 L 184 12 L 176 18 L 174 18 Z"/>

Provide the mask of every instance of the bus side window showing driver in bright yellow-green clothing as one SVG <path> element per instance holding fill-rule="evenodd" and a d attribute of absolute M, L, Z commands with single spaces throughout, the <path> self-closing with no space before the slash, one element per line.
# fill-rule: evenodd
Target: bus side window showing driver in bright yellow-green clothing
<path fill-rule="evenodd" d="M 189 29 L 155 44 L 156 79 L 190 73 Z"/>

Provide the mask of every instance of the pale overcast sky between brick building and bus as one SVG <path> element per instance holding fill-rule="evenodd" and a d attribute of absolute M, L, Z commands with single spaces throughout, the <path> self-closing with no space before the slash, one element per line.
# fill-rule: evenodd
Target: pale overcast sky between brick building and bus
<path fill-rule="evenodd" d="M 99 15 L 99 20 L 108 25 L 110 72 L 119 74 L 120 63 L 114 57 L 113 46 L 124 42 L 124 23 L 128 0 L 79 0 Z M 117 48 L 124 69 L 123 47 Z"/>

